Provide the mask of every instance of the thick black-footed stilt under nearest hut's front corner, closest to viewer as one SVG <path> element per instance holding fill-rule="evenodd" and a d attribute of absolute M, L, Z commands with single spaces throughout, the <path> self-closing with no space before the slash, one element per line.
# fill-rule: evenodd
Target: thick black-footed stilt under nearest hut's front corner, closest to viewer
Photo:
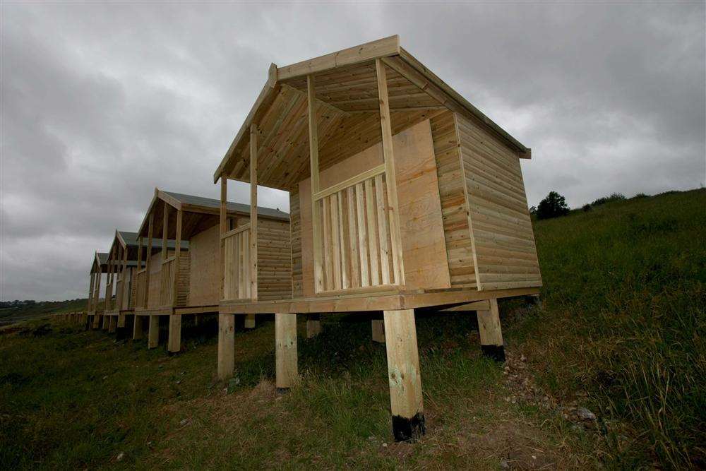
<path fill-rule="evenodd" d="M 384 311 L 383 316 L 393 433 L 397 441 L 414 440 L 424 435 L 424 405 L 414 309 Z"/>

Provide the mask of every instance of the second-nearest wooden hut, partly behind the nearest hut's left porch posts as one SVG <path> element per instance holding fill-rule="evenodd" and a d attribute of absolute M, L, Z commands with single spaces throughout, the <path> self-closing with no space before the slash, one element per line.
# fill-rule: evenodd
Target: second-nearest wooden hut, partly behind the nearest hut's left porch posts
<path fill-rule="evenodd" d="M 177 247 L 189 242 L 189 252 L 169 250 L 145 257 L 145 268 L 138 273 L 137 304 L 134 337 L 142 335 L 144 318 L 149 318 L 148 345 L 156 347 L 159 316 L 169 316 L 167 350 L 181 350 L 181 316 L 217 314 L 220 304 L 220 210 L 221 202 L 213 198 L 174 193 L 155 189 L 155 196 L 137 234 L 138 246 L 155 240 L 176 241 Z M 259 270 L 258 283 L 263 299 L 292 297 L 291 250 L 289 245 L 289 215 L 280 210 L 257 208 Z M 234 256 L 246 254 L 249 244 L 251 208 L 229 202 L 226 224 L 232 234 L 244 234 L 241 244 L 234 247 Z M 179 260 L 179 263 L 177 263 Z M 142 261 L 138 251 L 138 261 Z M 244 273 L 242 282 L 248 282 Z M 246 328 L 255 327 L 255 315 L 246 319 Z"/>

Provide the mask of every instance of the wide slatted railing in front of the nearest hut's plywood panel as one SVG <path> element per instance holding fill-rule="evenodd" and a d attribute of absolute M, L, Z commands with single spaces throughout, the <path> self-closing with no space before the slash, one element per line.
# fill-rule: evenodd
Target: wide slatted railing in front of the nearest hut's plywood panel
<path fill-rule="evenodd" d="M 313 225 L 320 227 L 314 234 L 314 243 L 321 244 L 318 293 L 400 285 L 384 165 L 315 193 L 313 201 L 313 217 L 320 218 Z"/>

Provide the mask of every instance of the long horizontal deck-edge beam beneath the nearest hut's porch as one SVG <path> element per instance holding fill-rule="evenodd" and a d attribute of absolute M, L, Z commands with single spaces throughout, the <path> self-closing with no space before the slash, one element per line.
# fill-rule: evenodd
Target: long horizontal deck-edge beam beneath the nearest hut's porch
<path fill-rule="evenodd" d="M 499 299 L 504 297 L 538 294 L 539 287 L 516 288 L 513 290 L 415 290 L 392 291 L 387 293 L 347 294 L 333 297 L 310 297 L 282 299 L 277 301 L 243 302 L 242 300 L 222 301 L 220 314 L 273 314 L 358 312 L 416 309 L 431 306 L 449 306 L 469 302 Z"/>

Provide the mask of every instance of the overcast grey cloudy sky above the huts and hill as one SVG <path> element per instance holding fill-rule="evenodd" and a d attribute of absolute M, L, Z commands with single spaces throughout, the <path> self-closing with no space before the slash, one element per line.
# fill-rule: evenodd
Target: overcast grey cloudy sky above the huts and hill
<path fill-rule="evenodd" d="M 702 2 L 0 8 L 4 300 L 85 297 L 93 251 L 136 230 L 155 186 L 217 198 L 270 62 L 393 34 L 532 148 L 530 205 L 706 179 Z M 288 209 L 286 193 L 260 198 Z"/>

